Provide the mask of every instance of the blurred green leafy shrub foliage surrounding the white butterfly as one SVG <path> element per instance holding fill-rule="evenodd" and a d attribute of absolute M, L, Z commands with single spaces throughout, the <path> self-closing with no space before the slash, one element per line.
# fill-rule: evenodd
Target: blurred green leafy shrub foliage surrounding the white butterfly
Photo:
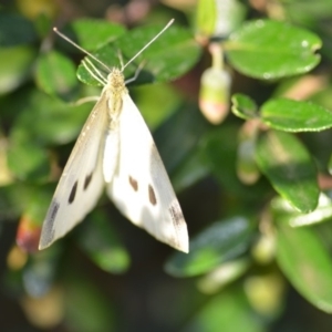
<path fill-rule="evenodd" d="M 93 3 L 0 7 L 0 330 L 330 331 L 331 1 Z M 106 197 L 37 251 L 93 107 L 76 102 L 101 92 L 84 54 L 51 28 L 112 68 L 118 50 L 128 61 L 172 18 L 125 75 L 144 61 L 128 89 L 177 191 L 190 252 L 157 242 Z M 218 125 L 198 106 L 211 40 L 232 77 L 220 91 L 231 113 Z"/>

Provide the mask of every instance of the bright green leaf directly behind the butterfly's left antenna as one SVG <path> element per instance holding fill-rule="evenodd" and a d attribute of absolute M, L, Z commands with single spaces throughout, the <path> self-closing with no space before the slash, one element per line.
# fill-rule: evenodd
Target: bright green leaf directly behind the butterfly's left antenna
<path fill-rule="evenodd" d="M 74 32 L 79 45 L 87 51 L 113 42 L 126 31 L 123 25 L 96 19 L 75 20 L 68 27 L 68 30 Z"/>

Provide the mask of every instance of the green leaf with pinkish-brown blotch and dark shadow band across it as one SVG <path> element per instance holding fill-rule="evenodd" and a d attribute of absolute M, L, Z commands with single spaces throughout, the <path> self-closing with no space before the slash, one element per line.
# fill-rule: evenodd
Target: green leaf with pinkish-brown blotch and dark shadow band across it
<path fill-rule="evenodd" d="M 256 159 L 273 188 L 298 210 L 318 205 L 317 169 L 304 145 L 293 135 L 269 131 L 258 141 Z"/>

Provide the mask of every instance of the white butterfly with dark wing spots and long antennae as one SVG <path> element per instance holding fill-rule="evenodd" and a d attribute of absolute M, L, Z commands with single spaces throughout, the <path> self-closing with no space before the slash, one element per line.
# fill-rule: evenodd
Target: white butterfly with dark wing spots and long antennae
<path fill-rule="evenodd" d="M 85 59 L 83 65 L 104 89 L 64 167 L 43 221 L 39 248 L 49 247 L 80 222 L 106 186 L 110 198 L 132 222 L 162 242 L 188 252 L 187 225 L 180 206 L 153 137 L 125 86 L 126 65 L 112 69 L 107 80 L 91 61 Z"/>

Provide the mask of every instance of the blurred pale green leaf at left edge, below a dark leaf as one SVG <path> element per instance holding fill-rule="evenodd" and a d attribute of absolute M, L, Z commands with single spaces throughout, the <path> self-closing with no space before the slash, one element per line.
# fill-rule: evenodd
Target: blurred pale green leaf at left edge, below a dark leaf
<path fill-rule="evenodd" d="M 29 76 L 35 59 L 30 46 L 0 49 L 0 95 L 20 86 Z"/>

